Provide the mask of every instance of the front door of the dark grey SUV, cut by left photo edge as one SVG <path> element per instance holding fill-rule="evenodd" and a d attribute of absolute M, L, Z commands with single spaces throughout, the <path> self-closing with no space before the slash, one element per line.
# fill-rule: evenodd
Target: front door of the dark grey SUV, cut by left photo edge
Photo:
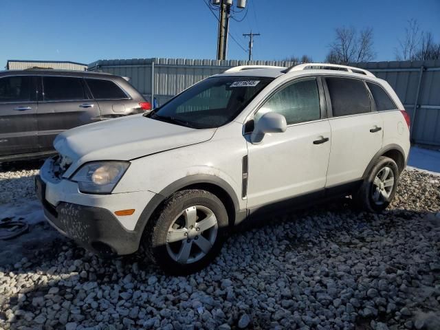
<path fill-rule="evenodd" d="M 36 78 L 0 78 L 0 157 L 38 151 Z"/>

